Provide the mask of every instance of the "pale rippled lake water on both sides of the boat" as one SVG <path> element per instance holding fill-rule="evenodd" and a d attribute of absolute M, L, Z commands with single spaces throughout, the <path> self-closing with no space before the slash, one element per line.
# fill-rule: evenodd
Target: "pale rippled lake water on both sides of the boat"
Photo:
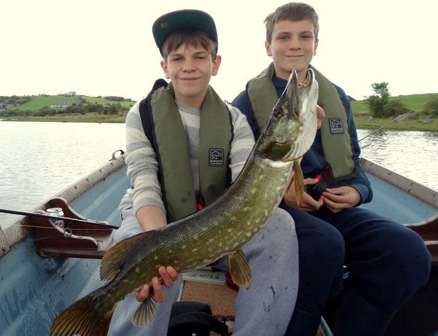
<path fill-rule="evenodd" d="M 438 132 L 384 131 L 360 145 L 365 158 L 438 190 Z M 31 211 L 125 147 L 124 124 L 0 121 L 0 208 Z M 17 218 L 0 213 L 0 225 Z"/>

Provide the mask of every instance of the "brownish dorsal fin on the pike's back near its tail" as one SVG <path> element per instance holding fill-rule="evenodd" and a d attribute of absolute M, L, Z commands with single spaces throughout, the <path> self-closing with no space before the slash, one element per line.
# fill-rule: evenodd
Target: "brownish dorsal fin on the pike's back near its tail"
<path fill-rule="evenodd" d="M 130 249 L 132 249 L 132 246 L 137 244 L 139 240 L 150 232 L 152 231 L 139 233 L 138 235 L 122 240 L 106 251 L 105 255 L 103 255 L 102 262 L 100 263 L 100 280 L 114 279 L 117 273 L 119 273 L 119 269 L 125 261 L 125 256 Z"/>

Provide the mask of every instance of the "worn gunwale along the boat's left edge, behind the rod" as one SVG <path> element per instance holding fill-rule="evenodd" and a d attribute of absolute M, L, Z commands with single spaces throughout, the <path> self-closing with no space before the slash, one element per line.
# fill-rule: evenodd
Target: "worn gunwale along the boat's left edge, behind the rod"
<path fill-rule="evenodd" d="M 95 171 L 92 171 L 87 176 L 69 185 L 61 192 L 58 192 L 58 194 L 53 195 L 50 199 L 53 199 L 55 197 L 62 197 L 67 201 L 67 203 L 71 203 L 79 196 L 87 192 L 87 190 L 91 189 L 91 187 L 94 187 L 94 185 L 105 180 L 107 176 L 121 169 L 124 165 L 125 156 L 118 156 L 117 158 L 114 158 L 107 162 L 102 167 L 96 169 Z M 44 203 L 46 203 L 46 201 L 44 201 Z M 44 203 L 37 205 L 34 211 L 41 209 Z M 27 223 L 28 217 L 22 216 L 16 221 L 13 221 L 8 227 L 4 229 L 2 229 L 0 226 L 0 258 L 3 255 L 6 255 L 6 253 L 8 253 L 12 246 L 23 240 L 27 235 L 31 233 L 30 228 L 26 227 Z"/>

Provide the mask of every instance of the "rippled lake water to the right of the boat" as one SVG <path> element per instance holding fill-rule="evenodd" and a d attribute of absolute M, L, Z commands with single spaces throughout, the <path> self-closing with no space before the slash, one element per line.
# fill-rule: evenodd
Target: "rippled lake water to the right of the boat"
<path fill-rule="evenodd" d="M 372 133 L 358 130 L 359 140 Z M 360 142 L 362 157 L 438 190 L 438 132 L 380 131 Z"/>

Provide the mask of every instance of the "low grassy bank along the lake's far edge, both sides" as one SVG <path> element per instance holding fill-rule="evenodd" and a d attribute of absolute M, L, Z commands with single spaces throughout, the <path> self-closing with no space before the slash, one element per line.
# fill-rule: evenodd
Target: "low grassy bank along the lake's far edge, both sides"
<path fill-rule="evenodd" d="M 126 115 L 96 116 L 96 115 L 55 115 L 52 117 L 10 117 L 0 121 L 42 121 L 42 122 L 94 122 L 94 123 L 119 123 L 125 122 Z M 358 129 L 377 129 L 387 124 L 391 119 L 369 118 L 365 115 L 355 115 L 354 121 Z M 403 120 L 393 122 L 383 130 L 387 131 L 438 131 L 438 120 L 423 121 L 422 119 Z"/>

